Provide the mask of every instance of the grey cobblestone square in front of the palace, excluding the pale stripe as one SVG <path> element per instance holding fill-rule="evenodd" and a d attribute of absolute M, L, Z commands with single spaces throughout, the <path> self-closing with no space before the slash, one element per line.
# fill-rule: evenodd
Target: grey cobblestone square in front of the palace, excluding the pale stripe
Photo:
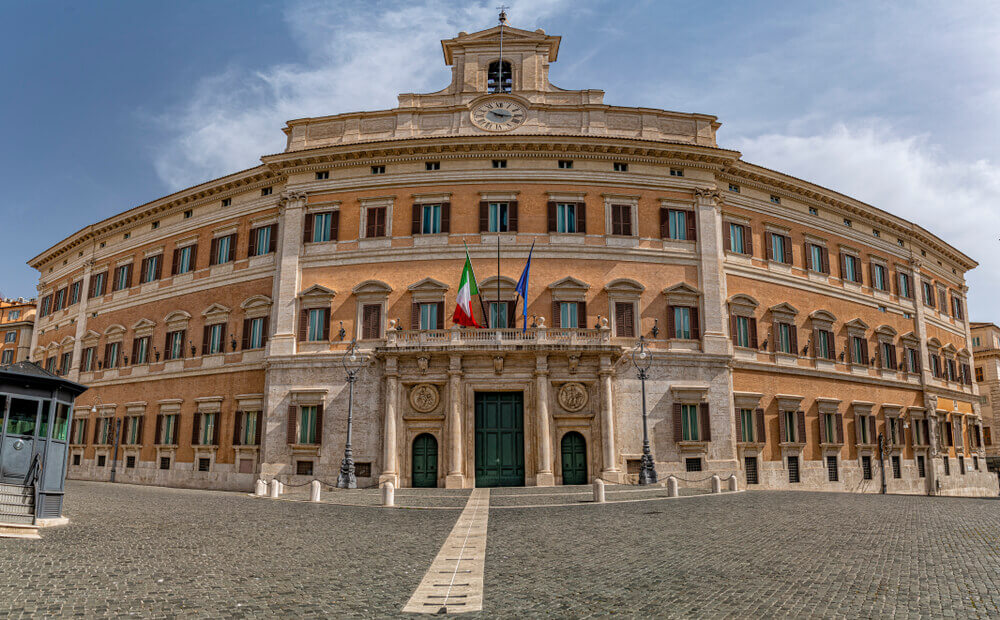
<path fill-rule="evenodd" d="M 572 503 L 582 490 L 550 491 Z M 0 616 L 399 616 L 458 518 L 79 481 L 66 504 L 71 524 L 41 541 L 0 539 Z M 750 492 L 491 507 L 485 569 L 483 611 L 465 617 L 997 616 L 1000 502 Z"/>

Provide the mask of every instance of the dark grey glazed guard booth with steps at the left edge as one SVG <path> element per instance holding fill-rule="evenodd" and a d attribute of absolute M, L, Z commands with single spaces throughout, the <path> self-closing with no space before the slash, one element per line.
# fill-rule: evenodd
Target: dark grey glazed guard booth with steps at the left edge
<path fill-rule="evenodd" d="M 86 389 L 31 362 L 0 366 L 0 524 L 62 516 L 73 401 Z"/>

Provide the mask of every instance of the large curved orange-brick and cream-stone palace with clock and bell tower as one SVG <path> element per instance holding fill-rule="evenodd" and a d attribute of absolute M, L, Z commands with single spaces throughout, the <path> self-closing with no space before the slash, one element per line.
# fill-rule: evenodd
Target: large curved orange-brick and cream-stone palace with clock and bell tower
<path fill-rule="evenodd" d="M 459 33 L 443 90 L 288 121 L 259 166 L 31 259 L 32 359 L 90 388 L 69 476 L 107 479 L 117 439 L 123 482 L 333 482 L 356 341 L 359 486 L 634 482 L 641 337 L 661 480 L 995 495 L 976 262 L 748 163 L 714 116 L 554 86 L 559 44 Z M 466 248 L 490 328 L 451 322 Z"/>

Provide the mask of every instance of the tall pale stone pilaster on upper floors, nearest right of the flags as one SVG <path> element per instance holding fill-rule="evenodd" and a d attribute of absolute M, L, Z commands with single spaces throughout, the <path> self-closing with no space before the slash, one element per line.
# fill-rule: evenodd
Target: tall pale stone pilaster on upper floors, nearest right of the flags
<path fill-rule="evenodd" d="M 698 278 L 703 310 L 701 313 L 702 350 L 706 353 L 732 355 L 729 340 L 726 275 L 723 264 L 722 212 L 719 190 L 695 189 L 698 222 Z"/>

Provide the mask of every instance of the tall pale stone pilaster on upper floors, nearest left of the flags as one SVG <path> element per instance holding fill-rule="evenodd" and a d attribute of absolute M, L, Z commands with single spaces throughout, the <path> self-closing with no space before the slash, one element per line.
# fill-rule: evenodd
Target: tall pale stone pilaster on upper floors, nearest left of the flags
<path fill-rule="evenodd" d="M 305 225 L 306 194 L 288 191 L 279 203 L 278 254 L 275 257 L 274 301 L 271 324 L 274 333 L 268 339 L 268 356 L 295 353 L 296 296 L 299 292 L 299 253 Z"/>

